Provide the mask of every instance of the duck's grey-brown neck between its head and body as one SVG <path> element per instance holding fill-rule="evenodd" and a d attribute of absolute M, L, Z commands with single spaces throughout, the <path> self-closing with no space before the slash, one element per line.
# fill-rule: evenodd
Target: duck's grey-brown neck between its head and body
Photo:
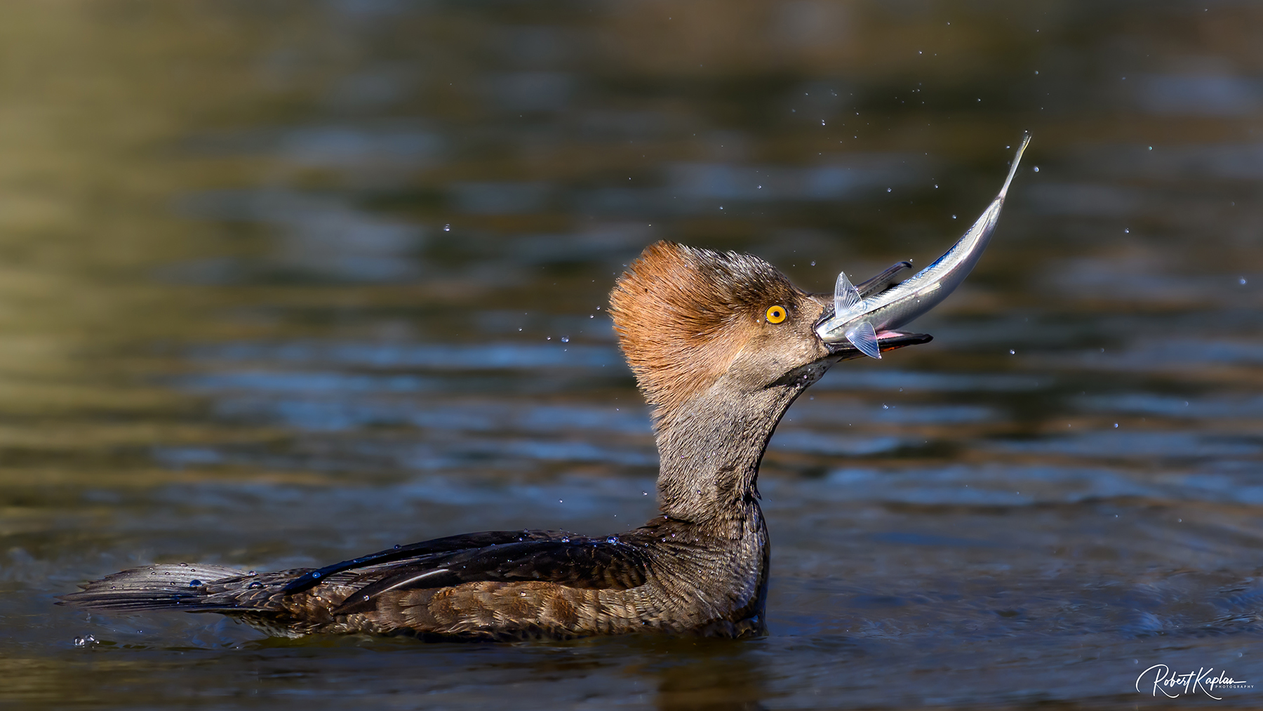
<path fill-rule="evenodd" d="M 818 378 L 818 376 L 817 376 Z M 658 508 L 672 519 L 739 535 L 759 514 L 757 479 L 781 417 L 813 379 L 754 393 L 719 385 L 657 422 Z"/>

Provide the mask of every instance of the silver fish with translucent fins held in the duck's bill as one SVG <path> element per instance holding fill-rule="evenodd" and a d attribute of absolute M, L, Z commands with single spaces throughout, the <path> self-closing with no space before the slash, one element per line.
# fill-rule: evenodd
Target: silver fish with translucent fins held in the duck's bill
<path fill-rule="evenodd" d="M 851 284 L 846 273 L 839 273 L 834 288 L 834 313 L 816 325 L 816 335 L 826 344 L 849 342 L 866 356 L 882 357 L 883 337 L 902 336 L 894 330 L 947 298 L 978 264 L 995 231 L 1004 196 L 1009 192 L 1009 183 L 1013 182 L 1022 153 L 1029 143 L 1029 135 L 1022 136 L 1022 145 L 1018 146 L 1000 193 L 965 236 L 933 264 L 890 288 L 885 287 L 898 272 L 911 264 L 901 261 L 859 287 Z"/>

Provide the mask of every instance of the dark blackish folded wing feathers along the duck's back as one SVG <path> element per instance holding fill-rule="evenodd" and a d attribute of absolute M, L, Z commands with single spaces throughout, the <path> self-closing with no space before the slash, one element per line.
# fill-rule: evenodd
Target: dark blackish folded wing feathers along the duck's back
<path fill-rule="evenodd" d="M 418 590 L 495 581 L 554 582 L 568 587 L 626 590 L 644 585 L 649 557 L 644 548 L 616 538 L 568 537 L 500 543 L 477 549 L 431 554 L 424 559 L 376 570 L 373 582 L 356 590 L 332 612 L 369 610 L 389 590 Z M 354 583 L 352 583 L 354 585 Z"/>

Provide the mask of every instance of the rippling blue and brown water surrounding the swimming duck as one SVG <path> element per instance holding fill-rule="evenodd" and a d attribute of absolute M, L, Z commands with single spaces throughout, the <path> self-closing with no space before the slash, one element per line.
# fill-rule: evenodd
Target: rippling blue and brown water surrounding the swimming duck
<path fill-rule="evenodd" d="M 6 0 L 0 701 L 1047 707 L 1258 684 L 1263 6 Z M 150 562 L 632 528 L 606 294 L 658 239 L 802 288 L 995 240 L 763 466 L 770 635 L 268 639 L 54 607 Z M 1258 703 L 1259 687 L 1180 703 Z"/>

